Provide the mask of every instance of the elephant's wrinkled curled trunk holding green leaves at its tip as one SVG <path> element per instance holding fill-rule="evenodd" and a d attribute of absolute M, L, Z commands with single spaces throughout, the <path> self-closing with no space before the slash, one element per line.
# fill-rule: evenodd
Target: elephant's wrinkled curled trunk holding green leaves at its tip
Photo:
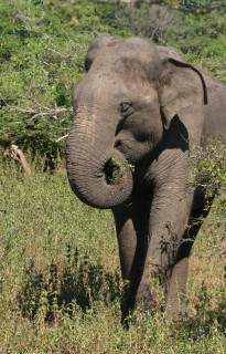
<path fill-rule="evenodd" d="M 115 129 L 106 119 L 88 112 L 76 113 L 66 149 L 73 191 L 85 204 L 101 209 L 123 204 L 132 190 L 131 170 L 125 156 L 114 148 Z"/>

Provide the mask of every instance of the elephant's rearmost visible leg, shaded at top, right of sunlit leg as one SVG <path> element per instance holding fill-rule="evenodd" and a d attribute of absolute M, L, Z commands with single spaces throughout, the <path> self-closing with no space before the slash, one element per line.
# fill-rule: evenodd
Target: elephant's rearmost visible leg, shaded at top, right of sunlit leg
<path fill-rule="evenodd" d="M 212 201 L 211 201 L 212 204 Z M 189 314 L 186 283 L 189 277 L 189 257 L 195 241 L 195 238 L 207 217 L 209 208 L 194 210 L 190 218 L 184 239 L 179 248 L 175 263 L 173 266 L 170 282 L 168 287 L 166 315 Z"/>

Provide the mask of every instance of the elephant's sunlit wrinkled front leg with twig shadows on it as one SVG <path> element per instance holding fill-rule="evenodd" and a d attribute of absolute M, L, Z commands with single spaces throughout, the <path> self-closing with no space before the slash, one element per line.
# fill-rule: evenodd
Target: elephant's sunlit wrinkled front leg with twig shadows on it
<path fill-rule="evenodd" d="M 164 186 L 155 192 L 150 211 L 150 241 L 136 305 L 142 303 L 144 308 L 153 310 L 153 303 L 158 302 L 160 295 L 157 293 L 157 282 L 168 296 L 172 270 L 187 227 L 192 199 L 192 194 L 180 192 L 175 185 Z M 183 271 L 181 274 L 179 272 L 179 277 L 180 281 L 183 280 Z M 174 302 L 172 296 L 171 300 Z"/>

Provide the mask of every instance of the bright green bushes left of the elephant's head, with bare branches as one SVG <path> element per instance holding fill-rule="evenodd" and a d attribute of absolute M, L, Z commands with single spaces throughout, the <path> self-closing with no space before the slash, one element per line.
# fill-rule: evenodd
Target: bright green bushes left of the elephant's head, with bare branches
<path fill-rule="evenodd" d="M 98 33 L 125 34 L 101 23 L 90 1 L 2 1 L 0 145 L 12 142 L 54 167 L 72 124 L 72 86 Z"/>

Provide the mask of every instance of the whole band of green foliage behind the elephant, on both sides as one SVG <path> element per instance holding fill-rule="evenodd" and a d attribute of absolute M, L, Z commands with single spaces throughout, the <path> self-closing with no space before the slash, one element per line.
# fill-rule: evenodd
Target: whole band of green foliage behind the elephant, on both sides
<path fill-rule="evenodd" d="M 0 146 L 13 142 L 53 166 L 64 156 L 73 83 L 83 77 L 88 42 L 99 33 L 174 45 L 226 82 L 224 8 L 191 12 L 180 3 L 1 1 Z"/>

